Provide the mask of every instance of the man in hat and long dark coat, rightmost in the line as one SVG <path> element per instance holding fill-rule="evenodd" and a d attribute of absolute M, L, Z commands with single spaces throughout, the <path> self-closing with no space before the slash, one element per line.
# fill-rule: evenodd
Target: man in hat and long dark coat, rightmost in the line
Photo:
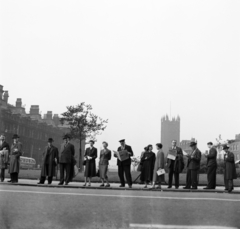
<path fill-rule="evenodd" d="M 224 154 L 224 184 L 229 193 L 233 190 L 233 180 L 237 179 L 234 154 L 229 151 L 229 146 L 223 146 Z"/>

